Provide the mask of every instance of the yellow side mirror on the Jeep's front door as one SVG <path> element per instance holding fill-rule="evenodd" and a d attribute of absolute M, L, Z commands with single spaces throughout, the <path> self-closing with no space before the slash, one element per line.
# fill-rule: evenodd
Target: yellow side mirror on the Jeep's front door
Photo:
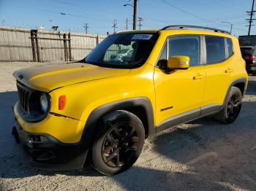
<path fill-rule="evenodd" d="M 168 69 L 188 69 L 189 68 L 189 56 L 176 55 L 168 58 L 167 68 Z"/>

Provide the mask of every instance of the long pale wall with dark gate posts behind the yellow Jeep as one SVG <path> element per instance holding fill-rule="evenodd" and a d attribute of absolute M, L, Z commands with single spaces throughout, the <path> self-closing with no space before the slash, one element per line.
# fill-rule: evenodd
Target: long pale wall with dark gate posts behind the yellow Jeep
<path fill-rule="evenodd" d="M 28 28 L 0 26 L 0 61 L 78 61 L 106 37 L 69 31 L 38 30 L 35 33 L 37 36 Z"/>

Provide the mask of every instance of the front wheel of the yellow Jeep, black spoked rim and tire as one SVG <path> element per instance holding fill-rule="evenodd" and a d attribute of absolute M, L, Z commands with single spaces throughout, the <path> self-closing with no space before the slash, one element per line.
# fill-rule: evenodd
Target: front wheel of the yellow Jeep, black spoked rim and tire
<path fill-rule="evenodd" d="M 99 125 L 101 130 L 91 149 L 92 165 L 108 176 L 127 170 L 143 148 L 143 123 L 135 114 L 118 110 L 106 114 Z"/>

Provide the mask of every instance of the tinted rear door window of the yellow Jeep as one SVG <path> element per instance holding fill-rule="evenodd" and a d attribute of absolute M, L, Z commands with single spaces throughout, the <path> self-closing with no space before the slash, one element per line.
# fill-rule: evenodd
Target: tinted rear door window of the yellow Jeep
<path fill-rule="evenodd" d="M 225 58 L 225 38 L 206 36 L 206 63 L 219 63 Z"/>

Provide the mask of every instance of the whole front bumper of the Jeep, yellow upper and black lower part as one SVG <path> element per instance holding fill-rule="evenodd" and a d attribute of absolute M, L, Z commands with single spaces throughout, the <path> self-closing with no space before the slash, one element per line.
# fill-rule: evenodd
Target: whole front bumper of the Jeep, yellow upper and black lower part
<path fill-rule="evenodd" d="M 12 135 L 15 136 L 16 142 L 22 147 L 26 156 L 30 158 L 31 166 L 58 171 L 83 169 L 89 144 L 82 140 L 64 143 L 56 139 L 56 136 L 59 136 L 61 139 L 69 140 L 74 136 L 78 120 L 49 116 L 45 122 L 25 122 L 20 117 L 17 106 L 18 104 L 15 104 L 13 107 L 15 124 Z"/>

